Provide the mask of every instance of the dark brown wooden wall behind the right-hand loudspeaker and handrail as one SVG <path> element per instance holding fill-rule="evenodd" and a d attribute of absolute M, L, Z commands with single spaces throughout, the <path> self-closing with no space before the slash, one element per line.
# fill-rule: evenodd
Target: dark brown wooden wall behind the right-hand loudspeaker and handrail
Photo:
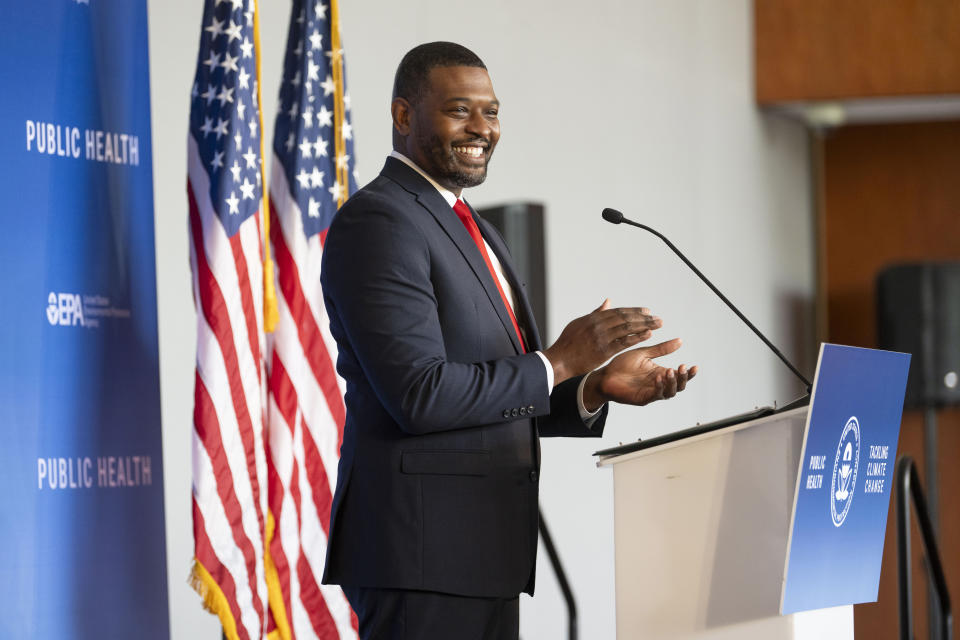
<path fill-rule="evenodd" d="M 960 3 L 958 3 L 960 4 Z M 820 286 L 826 339 L 876 346 L 878 270 L 900 260 L 960 260 L 960 122 L 848 127 L 820 140 Z M 940 539 L 960 598 L 960 408 L 939 412 Z M 898 455 L 921 465 L 923 419 L 904 416 Z M 879 600 L 854 609 L 858 639 L 897 637 L 896 525 L 888 519 Z M 914 529 L 916 637 L 927 637 L 926 583 Z M 957 631 L 955 630 L 955 635 Z"/>

